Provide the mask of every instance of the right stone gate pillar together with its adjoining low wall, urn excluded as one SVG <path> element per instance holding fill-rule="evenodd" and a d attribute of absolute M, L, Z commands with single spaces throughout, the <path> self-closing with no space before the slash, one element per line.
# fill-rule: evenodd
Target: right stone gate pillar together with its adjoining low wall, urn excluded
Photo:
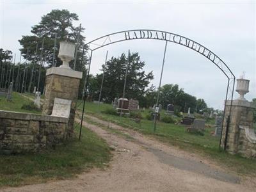
<path fill-rule="evenodd" d="M 244 157 L 256 157 L 256 142 L 253 138 L 253 106 L 246 100 L 234 100 L 228 126 L 226 150 L 231 154 L 241 154 Z M 223 123 L 221 147 L 224 148 L 227 131 L 227 120 L 230 110 L 230 100 L 227 101 L 225 119 Z M 246 134 L 246 131 L 249 132 Z"/>

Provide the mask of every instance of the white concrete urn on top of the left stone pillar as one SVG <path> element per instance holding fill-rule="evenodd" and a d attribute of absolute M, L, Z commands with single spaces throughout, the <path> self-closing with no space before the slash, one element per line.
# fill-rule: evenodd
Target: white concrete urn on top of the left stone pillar
<path fill-rule="evenodd" d="M 58 58 L 63 61 L 60 67 L 70 68 L 69 62 L 74 60 L 76 45 L 70 42 L 60 42 L 60 51 L 58 54 Z"/>

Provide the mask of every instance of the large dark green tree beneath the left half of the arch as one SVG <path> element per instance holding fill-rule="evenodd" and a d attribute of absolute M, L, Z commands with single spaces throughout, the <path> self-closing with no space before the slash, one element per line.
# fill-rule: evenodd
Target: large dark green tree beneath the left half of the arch
<path fill-rule="evenodd" d="M 130 53 L 129 53 L 130 54 Z M 99 88 L 104 70 L 104 82 L 102 88 L 102 99 L 110 103 L 115 97 L 122 97 L 124 89 L 125 72 L 128 57 L 123 53 L 120 57 L 107 61 L 106 66 L 102 65 L 102 73 L 90 78 L 89 93 L 98 99 Z M 129 66 L 127 69 L 127 82 L 125 97 L 138 99 L 142 102 L 150 80 L 153 79 L 152 72 L 145 73 L 143 67 L 145 62 L 141 61 L 138 52 L 129 55 Z"/>

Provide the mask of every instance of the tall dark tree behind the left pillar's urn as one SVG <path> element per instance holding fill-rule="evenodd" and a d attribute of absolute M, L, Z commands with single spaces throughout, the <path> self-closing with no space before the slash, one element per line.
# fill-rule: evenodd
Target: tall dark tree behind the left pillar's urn
<path fill-rule="evenodd" d="M 31 33 L 33 35 L 25 35 L 19 40 L 20 45 L 22 45 L 22 52 L 24 58 L 28 61 L 40 60 L 40 47 L 42 47 L 44 39 L 44 61 L 46 63 L 52 64 L 53 51 L 54 51 L 54 39 L 56 34 L 57 39 L 57 49 L 55 51 L 56 66 L 61 65 L 61 60 L 57 57 L 58 55 L 58 45 L 59 42 L 67 40 L 68 42 L 76 42 L 79 38 L 79 49 L 77 52 L 77 68 L 76 70 L 83 70 L 83 63 L 81 61 L 83 51 L 83 40 L 85 40 L 83 35 L 79 35 L 79 31 L 83 33 L 84 28 L 75 27 L 73 25 L 74 21 L 78 20 L 78 15 L 76 13 L 70 13 L 68 10 L 52 10 L 50 13 L 44 15 L 35 26 L 32 26 Z M 36 52 L 36 44 L 38 44 L 38 51 Z M 36 54 L 35 54 L 36 52 Z M 85 59 L 85 55 L 84 55 Z M 70 62 L 70 66 L 74 65 L 74 61 Z"/>

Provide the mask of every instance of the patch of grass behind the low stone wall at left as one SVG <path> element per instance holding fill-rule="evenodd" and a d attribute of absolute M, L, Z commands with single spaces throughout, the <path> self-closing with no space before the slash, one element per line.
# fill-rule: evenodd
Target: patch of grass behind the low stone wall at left
<path fill-rule="evenodd" d="M 30 102 L 32 101 L 22 97 L 20 93 L 13 92 L 12 101 L 10 102 L 7 102 L 5 97 L 0 96 L 0 110 L 41 114 L 41 111 L 21 109 L 24 104 L 29 104 Z"/>

